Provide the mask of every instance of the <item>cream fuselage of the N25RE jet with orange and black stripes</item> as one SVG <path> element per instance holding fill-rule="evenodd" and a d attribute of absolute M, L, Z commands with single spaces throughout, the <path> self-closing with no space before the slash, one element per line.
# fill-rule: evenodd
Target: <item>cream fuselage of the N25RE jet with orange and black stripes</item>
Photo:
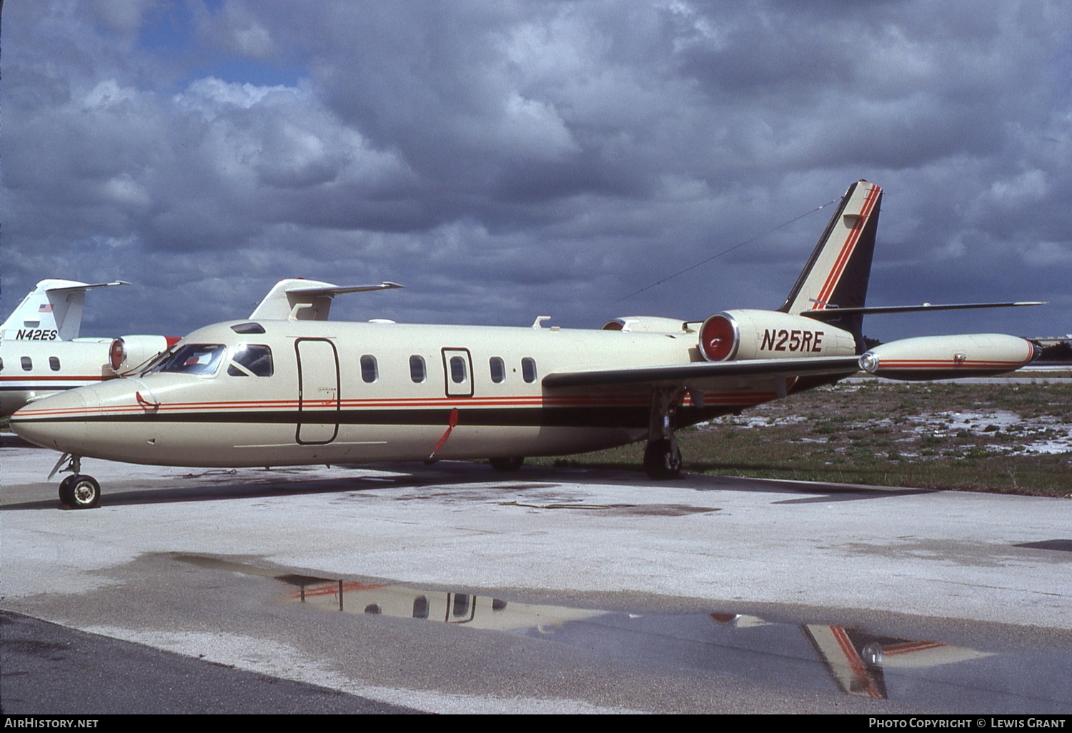
<path fill-rule="evenodd" d="M 647 436 L 652 385 L 548 390 L 545 375 L 701 360 L 686 330 L 264 320 L 263 333 L 236 332 L 250 323 L 191 333 L 172 351 L 190 363 L 27 408 L 18 431 L 63 452 L 155 465 L 577 453 Z M 787 383 L 708 379 L 703 406 L 686 397 L 675 427 L 774 400 Z"/>

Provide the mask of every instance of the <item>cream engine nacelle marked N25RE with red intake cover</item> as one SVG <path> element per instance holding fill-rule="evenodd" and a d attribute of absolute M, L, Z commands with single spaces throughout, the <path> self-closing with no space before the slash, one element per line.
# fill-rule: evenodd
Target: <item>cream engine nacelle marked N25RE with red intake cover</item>
<path fill-rule="evenodd" d="M 780 311 L 716 313 L 700 327 L 700 353 L 708 361 L 852 356 L 852 334 L 814 318 Z"/>

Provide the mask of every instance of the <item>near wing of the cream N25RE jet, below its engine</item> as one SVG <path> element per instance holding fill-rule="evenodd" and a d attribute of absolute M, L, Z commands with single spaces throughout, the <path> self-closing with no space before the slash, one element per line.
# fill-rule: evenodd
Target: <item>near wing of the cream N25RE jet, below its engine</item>
<path fill-rule="evenodd" d="M 592 387 L 624 384 L 682 384 L 711 377 L 790 377 L 805 374 L 846 374 L 860 371 L 860 357 L 813 357 L 809 359 L 744 359 L 694 361 L 687 364 L 623 366 L 578 372 L 557 372 L 544 377 L 549 388 Z"/>

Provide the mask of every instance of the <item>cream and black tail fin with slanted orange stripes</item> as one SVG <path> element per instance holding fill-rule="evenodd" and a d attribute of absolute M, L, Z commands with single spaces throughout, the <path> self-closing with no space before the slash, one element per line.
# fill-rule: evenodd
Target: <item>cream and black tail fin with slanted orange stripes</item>
<path fill-rule="evenodd" d="M 859 181 L 849 186 L 779 311 L 798 314 L 864 305 L 881 203 L 882 189 L 874 183 Z M 861 314 L 823 320 L 863 343 Z"/>

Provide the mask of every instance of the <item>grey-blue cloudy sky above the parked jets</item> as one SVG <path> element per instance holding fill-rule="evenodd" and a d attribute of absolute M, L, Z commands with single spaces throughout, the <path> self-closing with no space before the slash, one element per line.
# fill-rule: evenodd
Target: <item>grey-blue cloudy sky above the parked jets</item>
<path fill-rule="evenodd" d="M 885 190 L 870 304 L 1051 302 L 868 335 L 1063 334 L 1070 19 L 1058 0 L 8 0 L 0 308 L 122 279 L 84 334 L 182 334 L 304 276 L 406 286 L 337 300 L 360 319 L 701 319 L 780 305 L 816 209 L 865 178 Z"/>

